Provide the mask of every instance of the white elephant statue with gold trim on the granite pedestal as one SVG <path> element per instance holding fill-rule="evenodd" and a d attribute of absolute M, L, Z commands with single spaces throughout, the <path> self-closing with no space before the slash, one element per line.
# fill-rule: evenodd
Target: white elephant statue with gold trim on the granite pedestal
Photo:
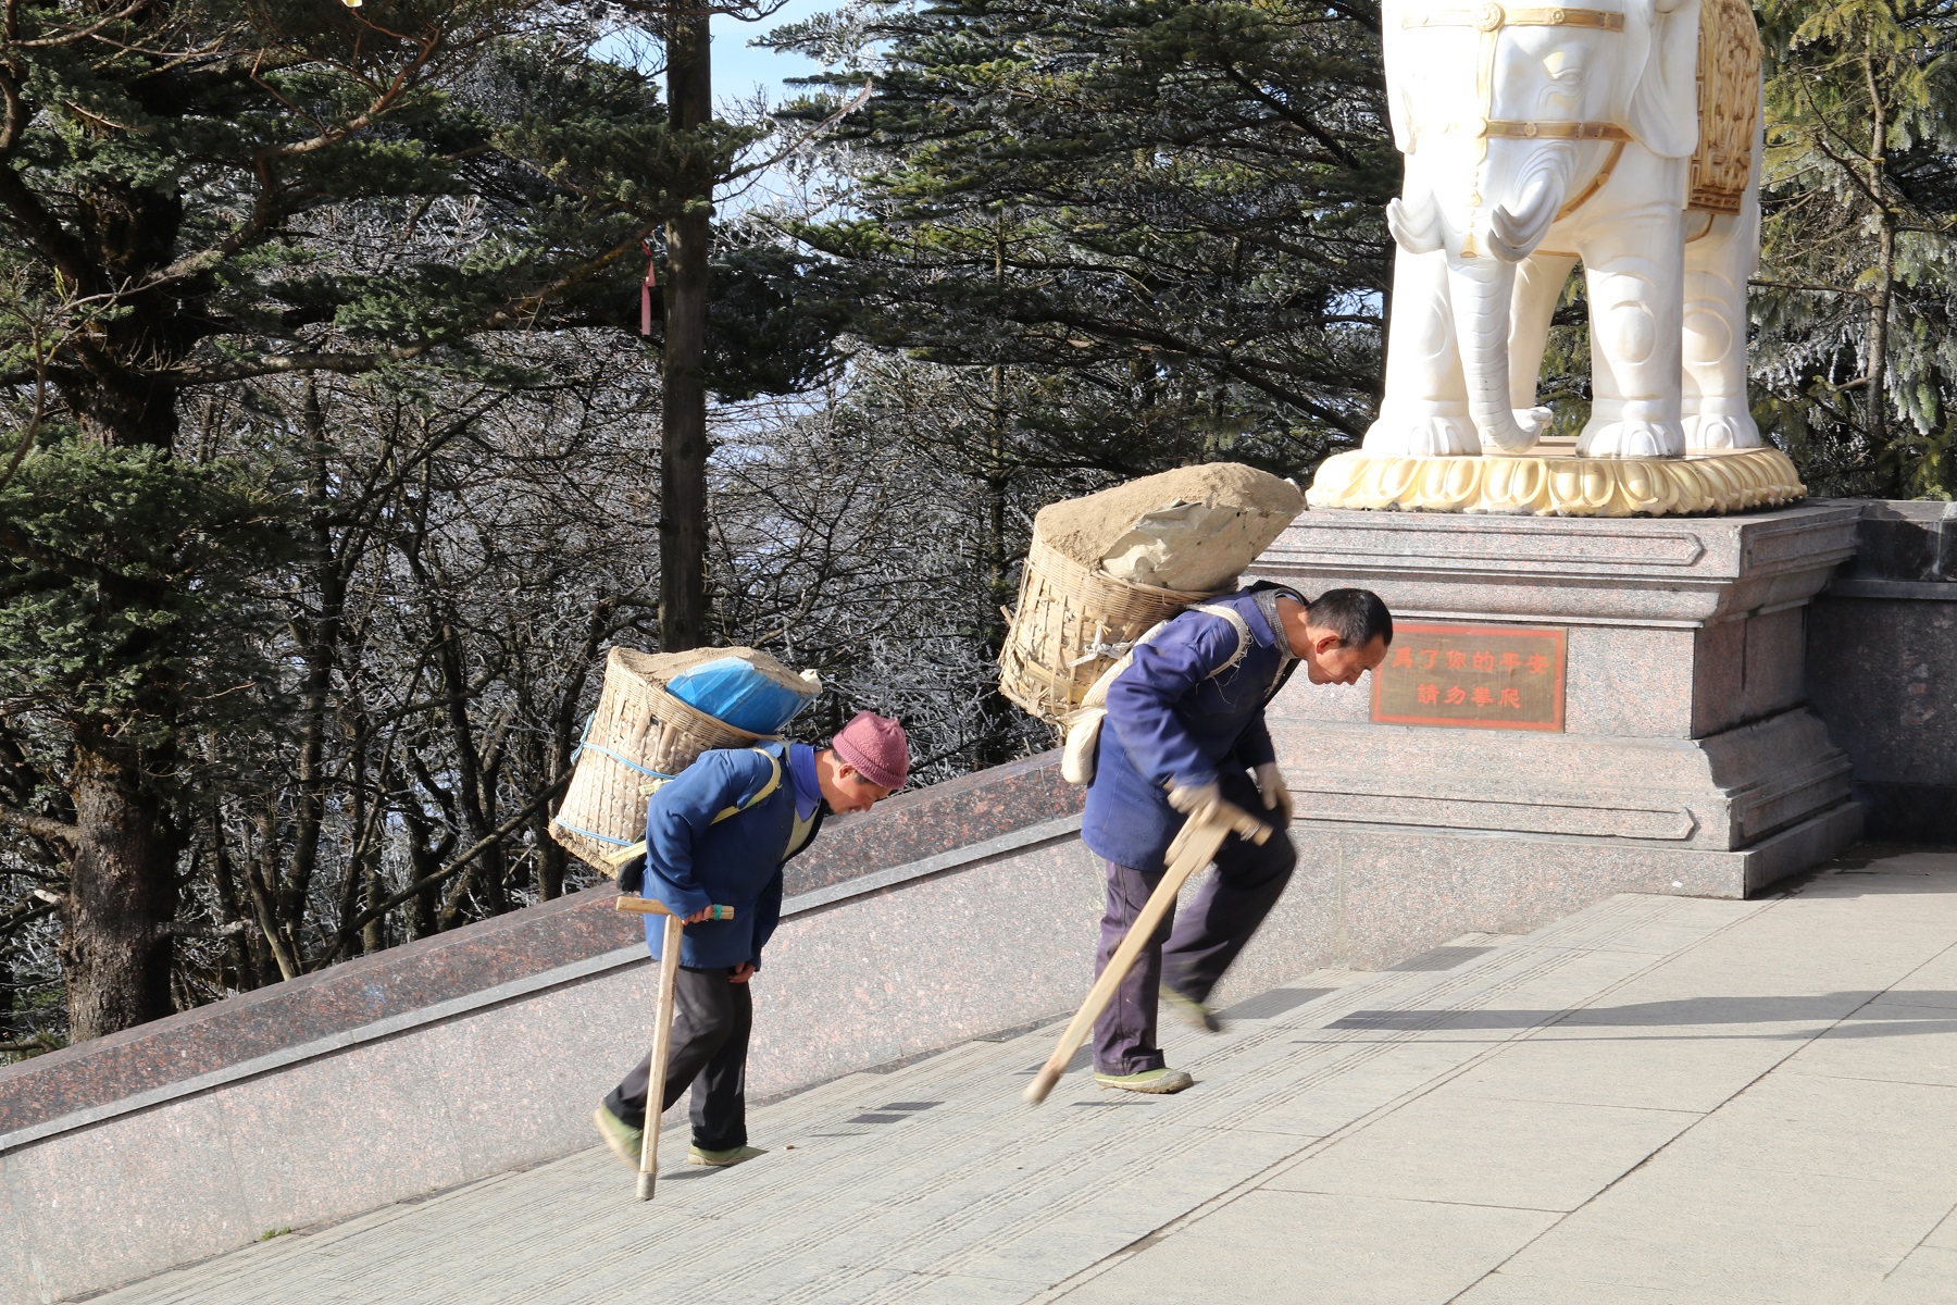
<path fill-rule="evenodd" d="M 1366 452 L 1526 454 L 1575 262 L 1591 458 L 1753 448 L 1746 282 L 1759 254 L 1759 35 L 1746 0 L 1521 8 L 1386 0 L 1407 160 L 1386 399 Z M 1705 8 L 1705 41 L 1701 41 Z"/>

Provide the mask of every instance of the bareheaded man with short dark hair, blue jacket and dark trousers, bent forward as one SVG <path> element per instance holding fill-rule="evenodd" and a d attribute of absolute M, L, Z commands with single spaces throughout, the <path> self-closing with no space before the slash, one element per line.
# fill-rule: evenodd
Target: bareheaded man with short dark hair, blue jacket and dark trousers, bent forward
<path fill-rule="evenodd" d="M 1297 853 L 1282 833 L 1292 822 L 1292 798 L 1264 704 L 1297 665 L 1315 685 L 1356 683 L 1386 659 L 1393 638 L 1386 605 L 1364 589 L 1333 589 L 1307 603 L 1292 589 L 1256 585 L 1206 607 L 1229 608 L 1237 620 L 1194 608 L 1178 614 L 1133 650 L 1108 687 L 1080 826 L 1108 875 L 1094 972 L 1127 937 L 1190 816 L 1233 804 L 1280 835 L 1262 845 L 1229 835 L 1215 875 L 1198 888 L 1180 923 L 1174 912 L 1162 920 L 1094 1025 L 1094 1078 L 1104 1088 L 1182 1092 L 1194 1082 L 1162 1060 L 1157 996 L 1207 1029 L 1221 1027 L 1206 1006 L 1209 992 L 1292 877 Z"/>

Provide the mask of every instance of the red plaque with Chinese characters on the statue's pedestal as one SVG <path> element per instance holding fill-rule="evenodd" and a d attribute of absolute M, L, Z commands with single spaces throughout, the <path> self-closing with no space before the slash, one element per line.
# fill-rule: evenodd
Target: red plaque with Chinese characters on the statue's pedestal
<path fill-rule="evenodd" d="M 1372 718 L 1464 730 L 1564 728 L 1564 630 L 1393 622 Z"/>

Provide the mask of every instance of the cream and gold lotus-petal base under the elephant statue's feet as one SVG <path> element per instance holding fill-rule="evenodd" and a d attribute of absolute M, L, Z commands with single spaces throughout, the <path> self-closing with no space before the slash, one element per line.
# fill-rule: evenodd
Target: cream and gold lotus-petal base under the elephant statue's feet
<path fill-rule="evenodd" d="M 1777 448 L 1718 448 L 1681 458 L 1579 458 L 1575 440 L 1542 440 L 1517 458 L 1403 458 L 1354 450 L 1329 458 L 1311 507 L 1528 517 L 1699 517 L 1798 503 L 1795 464 Z"/>

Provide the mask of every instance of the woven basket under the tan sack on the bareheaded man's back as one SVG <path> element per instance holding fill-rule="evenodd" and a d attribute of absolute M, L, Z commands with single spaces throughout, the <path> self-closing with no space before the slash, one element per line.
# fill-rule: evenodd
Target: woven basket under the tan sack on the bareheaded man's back
<path fill-rule="evenodd" d="M 1035 532 L 1020 577 L 1020 607 L 998 653 L 1000 693 L 1061 726 L 1127 644 L 1209 597 L 1215 595 L 1115 579 L 1051 548 Z"/>

